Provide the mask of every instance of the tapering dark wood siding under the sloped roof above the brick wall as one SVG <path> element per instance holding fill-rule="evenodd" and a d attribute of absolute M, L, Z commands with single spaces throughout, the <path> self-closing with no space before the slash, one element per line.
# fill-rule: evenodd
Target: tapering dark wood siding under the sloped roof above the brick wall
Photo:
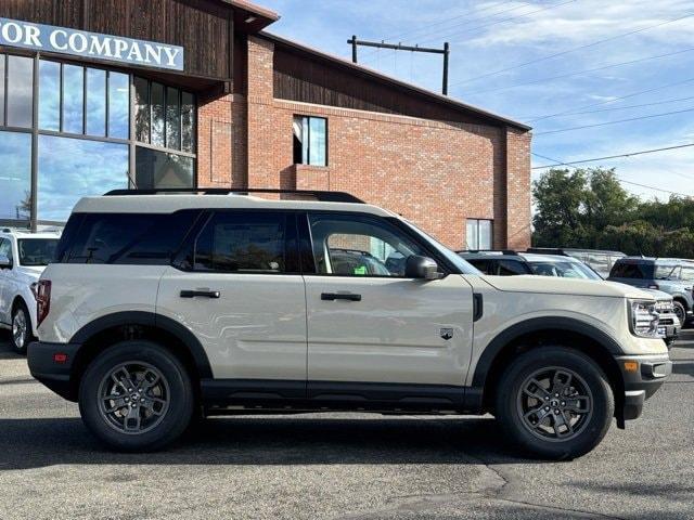
<path fill-rule="evenodd" d="M 378 81 L 339 63 L 274 48 L 274 98 L 425 119 L 501 126 L 445 102 Z"/>

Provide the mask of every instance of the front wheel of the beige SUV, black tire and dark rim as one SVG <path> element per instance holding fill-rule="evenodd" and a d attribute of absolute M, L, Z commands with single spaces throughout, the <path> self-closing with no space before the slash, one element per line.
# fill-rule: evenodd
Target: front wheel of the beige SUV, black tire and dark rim
<path fill-rule="evenodd" d="M 496 412 L 504 435 L 524 452 L 564 460 L 584 455 L 602 441 L 615 399 L 607 377 L 591 358 L 570 348 L 541 347 L 519 355 L 505 369 L 497 388 Z M 573 424 L 570 429 L 566 420 Z"/>

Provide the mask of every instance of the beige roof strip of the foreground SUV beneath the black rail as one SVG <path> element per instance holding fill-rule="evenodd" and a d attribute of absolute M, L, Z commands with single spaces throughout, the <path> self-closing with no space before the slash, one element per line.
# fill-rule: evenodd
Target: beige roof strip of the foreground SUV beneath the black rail
<path fill-rule="evenodd" d="M 320 211 L 358 211 L 381 217 L 395 213 L 358 203 L 321 203 L 316 200 L 271 200 L 253 195 L 197 195 L 197 194 L 158 194 L 158 195 L 108 195 L 85 197 L 75 205 L 73 212 L 79 213 L 170 213 L 180 209 L 304 209 Z"/>

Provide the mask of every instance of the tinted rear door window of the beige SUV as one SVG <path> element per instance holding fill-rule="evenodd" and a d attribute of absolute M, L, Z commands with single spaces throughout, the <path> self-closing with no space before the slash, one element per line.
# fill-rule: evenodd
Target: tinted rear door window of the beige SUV
<path fill-rule="evenodd" d="M 195 240 L 185 264 L 196 271 L 286 272 L 286 216 L 218 212 Z"/>

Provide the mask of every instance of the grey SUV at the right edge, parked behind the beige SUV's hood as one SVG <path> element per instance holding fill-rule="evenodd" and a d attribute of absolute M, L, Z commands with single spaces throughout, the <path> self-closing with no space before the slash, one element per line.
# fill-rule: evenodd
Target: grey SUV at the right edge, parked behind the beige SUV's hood
<path fill-rule="evenodd" d="M 692 321 L 694 262 L 690 260 L 627 257 L 615 263 L 607 280 L 667 292 L 674 299 L 674 312 L 682 325 Z"/>

